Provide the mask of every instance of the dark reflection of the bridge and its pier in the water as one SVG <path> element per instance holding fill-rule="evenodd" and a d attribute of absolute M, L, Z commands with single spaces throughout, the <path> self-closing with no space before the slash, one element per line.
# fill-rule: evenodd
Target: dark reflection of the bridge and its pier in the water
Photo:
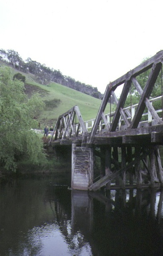
<path fill-rule="evenodd" d="M 79 247 L 88 241 L 94 256 L 162 255 L 163 190 L 71 193 L 71 232 L 83 235 Z"/>

